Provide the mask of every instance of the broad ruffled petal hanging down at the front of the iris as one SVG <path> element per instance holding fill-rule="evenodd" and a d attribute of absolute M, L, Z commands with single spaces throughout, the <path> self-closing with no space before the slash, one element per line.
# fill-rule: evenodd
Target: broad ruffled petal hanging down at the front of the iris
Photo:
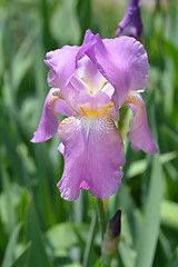
<path fill-rule="evenodd" d="M 60 123 L 58 134 L 65 146 L 63 150 L 60 145 L 65 157 L 63 175 L 58 182 L 61 197 L 76 200 L 81 188 L 101 199 L 113 195 L 121 182 L 120 166 L 125 164 L 122 139 L 113 121 L 108 116 L 92 122 L 69 117 Z"/>

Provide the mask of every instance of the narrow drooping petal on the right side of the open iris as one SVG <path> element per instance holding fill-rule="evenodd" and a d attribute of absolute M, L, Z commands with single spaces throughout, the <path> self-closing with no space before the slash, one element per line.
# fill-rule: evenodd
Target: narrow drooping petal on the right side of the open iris
<path fill-rule="evenodd" d="M 147 112 L 141 96 L 136 91 L 130 91 L 125 103 L 131 108 L 134 118 L 130 120 L 128 139 L 134 150 L 144 150 L 148 154 L 159 152 L 156 147 L 147 121 Z"/>

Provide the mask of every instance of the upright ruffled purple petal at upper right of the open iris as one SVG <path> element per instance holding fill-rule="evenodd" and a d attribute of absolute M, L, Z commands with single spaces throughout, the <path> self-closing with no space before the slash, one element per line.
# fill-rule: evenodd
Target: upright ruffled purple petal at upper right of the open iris
<path fill-rule="evenodd" d="M 120 37 L 101 40 L 86 53 L 102 76 L 115 88 L 112 101 L 119 111 L 130 90 L 145 89 L 148 78 L 148 58 L 142 44 L 135 38 Z"/>

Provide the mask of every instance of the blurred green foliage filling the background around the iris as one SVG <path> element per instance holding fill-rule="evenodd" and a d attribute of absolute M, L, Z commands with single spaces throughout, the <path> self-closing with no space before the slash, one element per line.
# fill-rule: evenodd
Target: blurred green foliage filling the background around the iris
<path fill-rule="evenodd" d="M 142 1 L 141 1 L 142 2 Z M 126 3 L 127 4 L 127 3 Z M 117 1 L 0 1 L 0 263 L 2 267 L 100 266 L 96 202 L 76 202 L 56 187 L 63 162 L 56 136 L 30 144 L 44 98 L 47 51 L 80 44 L 86 29 L 113 38 L 126 10 Z M 178 2 L 142 4 L 142 42 L 150 71 L 144 93 L 160 155 L 127 144 L 125 176 L 110 197 L 108 218 L 122 209 L 121 241 L 112 267 L 178 266 Z M 59 119 L 62 119 L 59 118 Z M 91 221 L 91 226 L 90 226 Z M 93 239 L 90 239 L 91 235 Z M 82 265 L 83 261 L 83 265 Z"/>

